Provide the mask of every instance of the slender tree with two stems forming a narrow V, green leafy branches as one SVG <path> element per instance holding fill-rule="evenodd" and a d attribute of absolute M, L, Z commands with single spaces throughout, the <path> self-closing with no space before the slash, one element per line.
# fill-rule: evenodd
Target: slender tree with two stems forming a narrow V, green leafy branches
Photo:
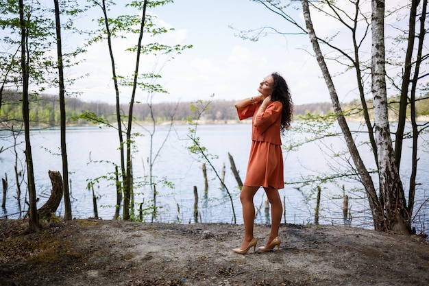
<path fill-rule="evenodd" d="M 130 208 L 134 208 L 132 203 L 132 193 L 134 188 L 134 180 L 132 174 L 132 147 L 134 144 L 134 135 L 132 131 L 133 122 L 133 111 L 134 103 L 136 100 L 136 91 L 138 88 L 141 90 L 154 93 L 164 92 L 162 87 L 158 84 L 151 84 L 145 82 L 146 80 L 152 80 L 160 78 L 160 75 L 153 73 L 140 73 L 140 56 L 157 56 L 159 54 L 171 54 L 180 53 L 184 49 L 188 49 L 191 46 L 181 45 L 162 45 L 161 43 L 143 43 L 143 34 L 147 33 L 148 36 L 156 36 L 158 34 L 164 34 L 169 30 L 163 27 L 156 27 L 153 22 L 154 16 L 146 14 L 147 8 L 154 8 L 157 5 L 165 5 L 171 2 L 167 1 L 132 1 L 129 4 L 125 4 L 125 7 L 134 8 L 142 13 L 141 18 L 135 15 L 119 15 L 115 19 L 111 19 L 108 16 L 108 3 L 106 1 L 93 1 L 93 3 L 103 11 L 103 18 L 99 23 L 103 26 L 99 35 L 93 40 L 90 40 L 90 44 L 103 40 L 103 36 L 106 36 L 108 40 L 108 49 L 110 53 L 110 62 L 112 65 L 112 78 L 114 80 L 114 88 L 116 95 L 116 113 L 117 113 L 117 128 L 119 134 L 119 150 L 121 153 L 121 187 L 123 192 L 123 219 L 130 219 Z M 109 3 L 112 4 L 112 3 Z M 135 27 L 139 27 L 136 29 Z M 117 74 L 117 67 L 114 61 L 114 52 L 112 49 L 112 40 L 116 37 L 121 38 L 125 35 L 130 36 L 132 34 L 138 34 L 138 41 L 134 47 L 130 47 L 127 51 L 132 51 L 136 55 L 136 62 L 134 72 L 130 77 Z M 130 102 L 128 106 L 127 116 L 123 114 L 120 103 L 120 86 L 130 86 L 132 88 Z M 97 119 L 95 119 L 97 120 Z M 125 134 L 125 140 L 123 139 Z M 124 154 L 125 153 L 125 154 Z"/>

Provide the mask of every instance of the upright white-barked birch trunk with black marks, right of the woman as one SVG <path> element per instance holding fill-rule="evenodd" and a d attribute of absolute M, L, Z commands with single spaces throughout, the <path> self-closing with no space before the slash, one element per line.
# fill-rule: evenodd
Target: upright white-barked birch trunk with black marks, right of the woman
<path fill-rule="evenodd" d="M 409 219 L 406 213 L 404 189 L 395 163 L 389 117 L 384 51 L 384 0 L 372 0 L 371 91 L 374 104 L 374 122 L 378 145 L 380 199 L 384 207 L 386 230 L 400 220 Z M 397 215 L 400 215 L 398 217 Z M 408 220 L 409 222 L 409 220 Z M 402 224 L 402 222 L 400 222 Z"/>

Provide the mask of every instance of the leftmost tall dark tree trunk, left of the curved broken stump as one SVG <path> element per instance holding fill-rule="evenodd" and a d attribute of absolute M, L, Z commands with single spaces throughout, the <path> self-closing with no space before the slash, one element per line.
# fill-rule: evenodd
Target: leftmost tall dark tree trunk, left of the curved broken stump
<path fill-rule="evenodd" d="M 29 67 L 27 53 L 27 27 L 24 20 L 24 3 L 19 0 L 19 23 L 21 26 L 21 69 L 23 73 L 23 121 L 25 134 L 25 163 L 27 165 L 27 184 L 29 196 L 29 231 L 38 232 L 40 230 L 39 219 L 36 206 L 36 184 L 34 183 L 34 169 L 32 157 L 32 144 L 29 136 Z"/>

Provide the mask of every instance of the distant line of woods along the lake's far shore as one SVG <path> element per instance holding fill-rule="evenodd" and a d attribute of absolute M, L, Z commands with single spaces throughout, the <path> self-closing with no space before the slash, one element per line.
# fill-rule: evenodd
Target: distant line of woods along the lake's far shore
<path fill-rule="evenodd" d="M 19 126 L 22 122 L 21 95 L 17 93 L 5 93 L 3 104 L 0 110 L 0 118 L 3 125 Z M 238 120 L 234 100 L 213 100 L 210 103 L 210 109 L 204 114 L 202 121 L 212 123 L 225 123 L 228 121 Z M 397 102 L 395 98 L 390 99 L 391 106 Z M 371 102 L 368 102 L 372 106 Z M 121 105 L 123 114 L 127 114 L 127 104 Z M 343 104 L 344 110 L 350 114 L 350 119 L 359 120 L 362 118 L 361 106 L 358 100 L 352 100 Z M 154 113 L 156 121 L 159 123 L 170 121 L 184 122 L 192 115 L 191 102 L 162 102 L 152 104 L 150 110 L 147 103 L 139 103 L 134 106 L 134 120 L 140 123 L 151 121 L 150 112 Z M 395 108 L 392 108 L 394 110 Z M 419 115 L 429 115 L 429 100 L 424 99 L 417 102 Z M 66 98 L 66 124 L 69 126 L 82 126 L 93 124 L 82 118 L 85 112 L 93 113 L 95 117 L 114 123 L 116 120 L 116 107 L 114 104 L 105 102 L 85 102 L 77 97 Z M 306 115 L 329 115 L 332 113 L 332 104 L 329 102 L 318 102 L 312 104 L 300 104 L 294 107 L 294 119 L 299 120 Z M 29 118 L 38 126 L 59 126 L 60 125 L 60 108 L 58 98 L 52 95 L 39 95 L 31 97 Z"/>

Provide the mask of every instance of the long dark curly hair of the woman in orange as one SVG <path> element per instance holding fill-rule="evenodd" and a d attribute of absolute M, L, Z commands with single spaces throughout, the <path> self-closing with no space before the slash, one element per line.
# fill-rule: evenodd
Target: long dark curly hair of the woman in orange
<path fill-rule="evenodd" d="M 282 109 L 282 123 L 280 124 L 280 130 L 284 134 L 284 130 L 291 128 L 291 121 L 293 119 L 293 102 L 289 86 L 286 84 L 286 80 L 279 73 L 271 73 L 273 77 L 273 86 L 271 89 L 271 102 L 281 102 L 283 104 Z"/>

